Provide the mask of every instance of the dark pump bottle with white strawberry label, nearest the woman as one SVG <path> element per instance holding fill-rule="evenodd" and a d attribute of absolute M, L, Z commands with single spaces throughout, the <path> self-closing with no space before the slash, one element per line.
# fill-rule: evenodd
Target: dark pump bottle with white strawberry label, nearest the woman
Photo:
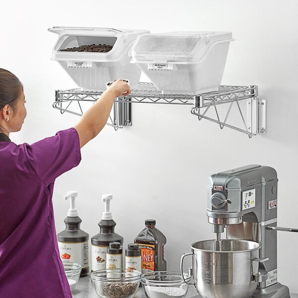
<path fill-rule="evenodd" d="M 70 199 L 71 206 L 67 218 L 64 220 L 66 229 L 60 232 L 57 238 L 62 261 L 81 264 L 80 276 L 83 276 L 89 273 L 89 235 L 79 228 L 82 220 L 78 217 L 75 209 L 75 197 L 77 197 L 76 191 L 68 191 L 67 195 L 64 196 L 66 200 Z"/>

